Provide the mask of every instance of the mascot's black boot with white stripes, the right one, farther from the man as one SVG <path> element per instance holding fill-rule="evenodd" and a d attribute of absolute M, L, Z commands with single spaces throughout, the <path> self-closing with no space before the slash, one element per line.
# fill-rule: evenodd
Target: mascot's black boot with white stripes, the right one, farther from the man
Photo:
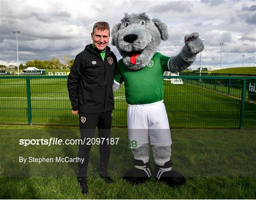
<path fill-rule="evenodd" d="M 172 170 L 172 162 L 168 161 L 164 166 L 155 164 L 155 178 L 171 186 L 183 185 L 186 182 L 184 176 Z"/>

